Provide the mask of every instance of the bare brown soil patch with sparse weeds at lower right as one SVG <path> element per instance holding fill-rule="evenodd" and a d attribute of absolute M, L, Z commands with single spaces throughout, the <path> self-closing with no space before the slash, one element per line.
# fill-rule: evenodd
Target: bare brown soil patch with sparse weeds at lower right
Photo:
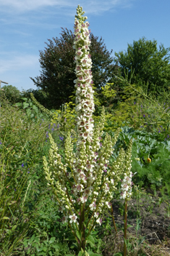
<path fill-rule="evenodd" d="M 140 199 L 131 199 L 128 202 L 127 224 L 130 225 L 130 227 L 127 228 L 127 231 L 130 236 L 139 239 L 141 244 L 145 241 L 149 245 L 156 244 L 157 246 L 157 244 L 159 244 L 160 247 L 166 247 L 168 254 L 164 255 L 170 255 L 169 205 L 170 199 L 166 202 L 162 201 L 161 193 L 158 192 L 157 196 L 154 196 L 150 191 L 143 193 Z M 112 207 L 117 230 L 120 231 L 124 228 L 124 201 L 114 200 L 112 201 Z M 114 239 L 115 236 L 113 236 L 113 233 L 110 233 L 110 241 L 109 238 L 106 238 L 106 243 L 111 242 L 113 244 Z M 118 243 L 120 240 L 122 240 L 121 244 L 123 244 L 123 232 L 119 236 Z M 140 243 L 139 241 L 137 241 L 138 244 Z M 167 241 L 167 245 L 164 244 L 164 241 Z M 110 253 L 106 250 L 103 255 L 112 255 Z"/>

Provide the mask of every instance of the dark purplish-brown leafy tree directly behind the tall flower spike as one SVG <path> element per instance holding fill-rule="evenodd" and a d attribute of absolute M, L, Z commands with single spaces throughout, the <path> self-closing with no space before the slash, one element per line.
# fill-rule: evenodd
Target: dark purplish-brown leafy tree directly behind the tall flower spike
<path fill-rule="evenodd" d="M 93 61 L 93 81 L 97 92 L 109 81 L 114 71 L 114 58 L 106 49 L 102 38 L 90 33 L 90 55 Z M 68 103 L 70 96 L 75 95 L 75 49 L 73 49 L 74 34 L 67 28 L 62 28 L 60 39 L 48 39 L 47 47 L 40 51 L 41 76 L 36 76 L 34 84 L 48 93 L 51 105 L 48 108 L 59 108 L 62 103 Z"/>

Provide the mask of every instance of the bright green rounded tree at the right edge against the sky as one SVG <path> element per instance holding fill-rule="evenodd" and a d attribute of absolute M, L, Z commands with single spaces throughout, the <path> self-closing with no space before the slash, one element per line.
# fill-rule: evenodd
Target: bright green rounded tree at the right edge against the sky
<path fill-rule="evenodd" d="M 148 83 L 148 91 L 153 91 L 156 85 L 156 92 L 161 92 L 170 86 L 169 51 L 170 48 L 164 48 L 163 44 L 158 49 L 156 40 L 143 37 L 128 44 L 127 52 L 115 52 L 114 62 L 121 76 L 131 78 L 132 84 L 146 86 Z"/>

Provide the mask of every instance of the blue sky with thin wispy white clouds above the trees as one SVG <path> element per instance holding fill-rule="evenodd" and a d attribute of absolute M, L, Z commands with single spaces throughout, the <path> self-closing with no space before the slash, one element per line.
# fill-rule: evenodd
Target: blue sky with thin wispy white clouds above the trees
<path fill-rule="evenodd" d="M 78 4 L 113 56 L 143 36 L 170 47 L 169 0 L 0 0 L 0 80 L 37 89 L 30 77 L 40 75 L 39 50 L 61 27 L 73 31 Z"/>

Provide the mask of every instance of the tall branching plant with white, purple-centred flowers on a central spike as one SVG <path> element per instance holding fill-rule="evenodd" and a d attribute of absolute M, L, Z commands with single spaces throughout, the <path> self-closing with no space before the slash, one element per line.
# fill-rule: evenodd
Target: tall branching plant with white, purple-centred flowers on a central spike
<path fill-rule="evenodd" d="M 78 249 L 85 252 L 88 236 L 96 224 L 101 225 L 104 210 L 111 207 L 110 201 L 116 184 L 121 180 L 124 171 L 131 168 L 131 154 L 125 156 L 124 150 L 121 149 L 118 158 L 109 167 L 109 158 L 114 151 L 119 130 L 115 133 L 114 139 L 106 134 L 102 140 L 104 109 L 101 113 L 101 122 L 94 127 L 90 32 L 89 23 L 85 22 L 87 17 L 82 16 L 84 13 L 82 7 L 78 6 L 74 27 L 77 147 L 74 151 L 72 137 L 68 133 L 63 159 L 57 153 L 58 148 L 49 135 L 49 160 L 47 162 L 43 156 L 43 166 L 48 185 L 54 191 L 59 204 L 59 211 L 63 213 L 62 221 L 68 223 L 71 228 Z M 129 152 L 131 148 L 132 143 L 129 145 Z"/>

